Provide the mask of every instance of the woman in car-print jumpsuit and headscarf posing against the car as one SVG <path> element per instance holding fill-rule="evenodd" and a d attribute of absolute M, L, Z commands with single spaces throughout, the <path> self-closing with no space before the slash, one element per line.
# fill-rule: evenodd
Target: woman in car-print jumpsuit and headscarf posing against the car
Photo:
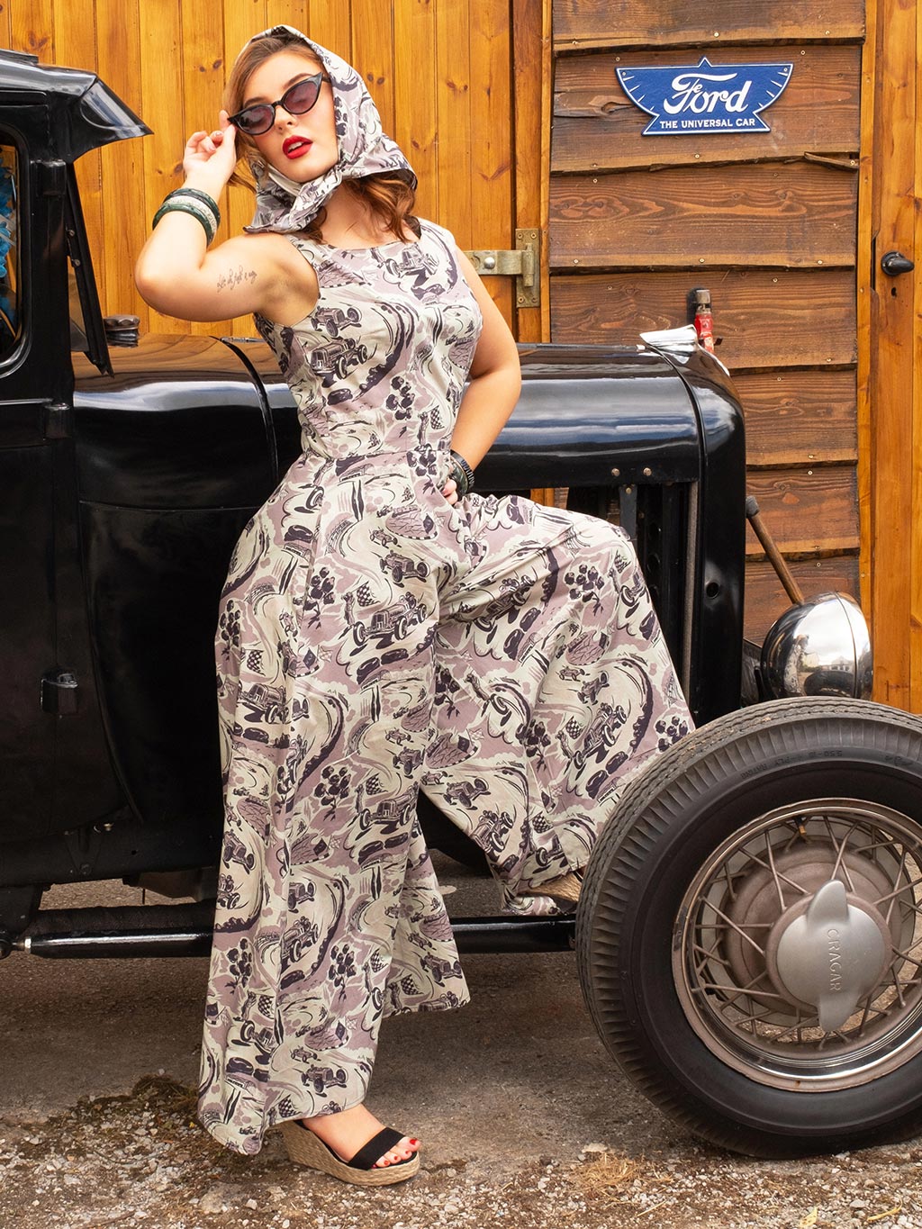
<path fill-rule="evenodd" d="M 304 451 L 221 599 L 199 1112 L 237 1152 L 280 1125 L 293 1159 L 396 1182 L 418 1142 L 364 1105 L 381 1018 L 467 1002 L 417 790 L 484 849 L 509 909 L 559 912 L 627 772 L 690 721 L 625 535 L 468 494 L 519 393 L 515 344 L 451 236 L 413 216 L 361 79 L 273 27 L 226 103 L 186 147 L 138 285 L 186 320 L 253 312 Z M 256 216 L 209 251 L 237 144 Z"/>

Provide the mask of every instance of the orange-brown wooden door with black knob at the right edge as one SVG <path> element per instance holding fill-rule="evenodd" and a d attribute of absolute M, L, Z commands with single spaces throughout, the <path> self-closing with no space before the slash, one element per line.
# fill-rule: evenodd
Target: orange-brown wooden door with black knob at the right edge
<path fill-rule="evenodd" d="M 859 323 L 877 698 L 922 712 L 922 17 L 868 0 Z M 874 70 L 872 73 L 872 69 Z M 894 256 L 915 262 L 899 272 Z M 888 272 L 888 269 L 890 272 Z"/>

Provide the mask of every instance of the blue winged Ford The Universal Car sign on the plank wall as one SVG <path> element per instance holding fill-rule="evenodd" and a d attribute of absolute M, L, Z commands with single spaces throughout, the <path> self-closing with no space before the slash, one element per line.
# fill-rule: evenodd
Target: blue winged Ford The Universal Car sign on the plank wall
<path fill-rule="evenodd" d="M 760 112 L 790 80 L 793 64 L 722 64 L 618 69 L 625 93 L 653 116 L 644 136 L 767 133 Z"/>

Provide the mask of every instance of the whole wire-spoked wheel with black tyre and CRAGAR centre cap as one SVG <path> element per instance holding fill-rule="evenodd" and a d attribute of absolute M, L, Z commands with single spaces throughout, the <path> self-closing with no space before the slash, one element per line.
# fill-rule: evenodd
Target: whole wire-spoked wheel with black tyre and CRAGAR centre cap
<path fill-rule="evenodd" d="M 790 1156 L 922 1127 L 922 719 L 754 705 L 636 777 L 590 859 L 583 993 L 687 1129 Z"/>

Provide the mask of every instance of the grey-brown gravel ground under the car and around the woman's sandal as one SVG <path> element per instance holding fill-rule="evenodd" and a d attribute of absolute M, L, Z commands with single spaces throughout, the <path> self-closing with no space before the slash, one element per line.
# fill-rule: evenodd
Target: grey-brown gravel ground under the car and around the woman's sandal
<path fill-rule="evenodd" d="M 419 1136 L 424 1168 L 364 1192 L 293 1168 L 275 1133 L 248 1159 L 197 1126 L 205 961 L 15 954 L 0 1227 L 922 1229 L 922 1141 L 784 1163 L 698 1145 L 612 1068 L 572 956 L 465 966 L 471 1007 L 385 1025 L 371 1105 Z"/>

